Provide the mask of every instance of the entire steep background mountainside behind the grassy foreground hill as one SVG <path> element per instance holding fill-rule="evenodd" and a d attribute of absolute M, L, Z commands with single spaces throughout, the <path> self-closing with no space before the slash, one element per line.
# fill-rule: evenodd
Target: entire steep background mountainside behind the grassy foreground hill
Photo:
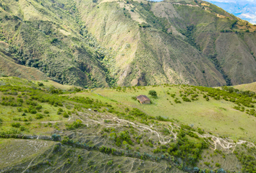
<path fill-rule="evenodd" d="M 2 76 L 85 88 L 256 80 L 255 26 L 205 1 L 1 0 L 0 11 Z"/>

